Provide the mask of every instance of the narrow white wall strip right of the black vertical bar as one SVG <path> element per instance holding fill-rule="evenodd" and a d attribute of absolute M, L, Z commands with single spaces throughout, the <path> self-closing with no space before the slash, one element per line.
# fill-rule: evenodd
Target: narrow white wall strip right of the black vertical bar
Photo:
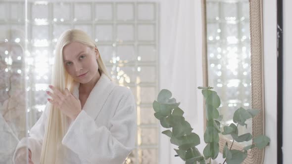
<path fill-rule="evenodd" d="M 291 76 L 291 61 L 292 52 L 291 50 L 291 38 L 292 38 L 292 1 L 284 0 L 284 104 L 283 104 L 283 164 L 291 164 L 290 158 L 292 157 L 292 142 L 290 137 L 292 135 L 291 124 L 292 124 L 292 105 L 291 105 L 291 93 L 292 93 L 292 76 Z"/>

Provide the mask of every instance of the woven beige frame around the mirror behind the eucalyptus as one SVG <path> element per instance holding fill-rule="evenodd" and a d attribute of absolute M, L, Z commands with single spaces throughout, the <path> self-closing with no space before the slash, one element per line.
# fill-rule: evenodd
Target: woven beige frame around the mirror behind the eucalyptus
<path fill-rule="evenodd" d="M 206 0 L 202 0 L 202 65 L 203 86 L 208 85 L 208 60 L 207 60 L 207 34 L 206 34 Z M 260 113 L 252 119 L 252 136 L 265 134 L 265 108 L 264 108 L 264 60 L 263 60 L 263 16 L 262 0 L 249 0 L 249 27 L 250 27 L 250 66 L 251 66 L 251 106 L 260 110 Z M 219 95 L 220 96 L 220 95 Z M 205 103 L 203 106 L 204 131 L 206 130 Z M 219 150 L 223 153 L 225 143 L 232 144 L 228 138 L 220 135 Z M 242 150 L 243 146 L 234 142 L 233 149 Z M 247 151 L 247 157 L 243 164 L 263 164 L 265 150 L 253 148 Z"/>

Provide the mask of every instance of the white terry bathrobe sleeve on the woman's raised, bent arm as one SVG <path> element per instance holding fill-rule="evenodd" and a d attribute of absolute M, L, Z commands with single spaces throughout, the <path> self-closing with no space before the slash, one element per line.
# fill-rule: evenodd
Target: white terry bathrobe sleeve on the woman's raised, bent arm
<path fill-rule="evenodd" d="M 112 101 L 110 103 L 116 100 Z M 82 164 L 123 164 L 134 149 L 137 115 L 134 96 L 129 89 L 118 103 L 109 120 L 109 128 L 97 126 L 85 111 L 70 125 L 62 144 L 76 153 Z"/>

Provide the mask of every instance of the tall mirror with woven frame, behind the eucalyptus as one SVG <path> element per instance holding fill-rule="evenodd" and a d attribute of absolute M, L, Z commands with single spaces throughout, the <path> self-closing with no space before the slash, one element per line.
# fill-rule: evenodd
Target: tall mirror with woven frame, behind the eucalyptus
<path fill-rule="evenodd" d="M 204 86 L 214 87 L 221 98 L 218 108 L 223 115 L 221 128 L 233 123 L 233 114 L 240 107 L 261 111 L 246 122 L 247 128 L 239 126 L 239 135 L 264 134 L 261 3 L 261 0 L 203 0 Z M 231 145 L 232 137 L 220 135 L 221 153 L 226 142 Z M 251 142 L 235 142 L 233 149 L 242 150 Z M 257 149 L 249 151 L 244 164 L 261 164 L 263 153 Z"/>

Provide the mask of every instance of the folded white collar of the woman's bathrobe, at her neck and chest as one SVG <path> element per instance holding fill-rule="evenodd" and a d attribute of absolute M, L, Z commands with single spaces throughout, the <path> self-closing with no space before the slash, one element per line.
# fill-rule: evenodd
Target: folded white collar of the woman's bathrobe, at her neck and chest
<path fill-rule="evenodd" d="M 78 82 L 73 90 L 73 95 L 76 98 L 79 98 L 79 86 L 80 83 Z M 82 110 L 84 110 L 89 116 L 96 120 L 100 110 L 102 109 L 103 104 L 105 103 L 106 99 L 108 98 L 114 87 L 115 84 L 111 82 L 105 74 L 101 74 L 96 85 L 90 92 Z"/>

